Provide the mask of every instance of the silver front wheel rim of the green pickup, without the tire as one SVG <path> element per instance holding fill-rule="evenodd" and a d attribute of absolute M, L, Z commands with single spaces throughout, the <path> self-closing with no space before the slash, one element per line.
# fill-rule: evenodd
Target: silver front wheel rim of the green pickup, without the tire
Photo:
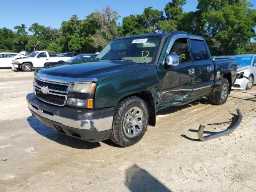
<path fill-rule="evenodd" d="M 143 112 L 139 107 L 132 107 L 126 112 L 123 122 L 124 134 L 128 138 L 136 137 L 142 130 Z"/>

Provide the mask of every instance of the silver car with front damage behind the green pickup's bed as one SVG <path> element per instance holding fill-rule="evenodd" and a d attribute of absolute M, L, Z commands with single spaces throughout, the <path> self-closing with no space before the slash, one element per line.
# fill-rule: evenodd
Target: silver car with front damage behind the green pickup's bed
<path fill-rule="evenodd" d="M 256 54 L 236 55 L 234 58 L 237 60 L 238 68 L 232 89 L 251 89 L 256 84 Z"/>

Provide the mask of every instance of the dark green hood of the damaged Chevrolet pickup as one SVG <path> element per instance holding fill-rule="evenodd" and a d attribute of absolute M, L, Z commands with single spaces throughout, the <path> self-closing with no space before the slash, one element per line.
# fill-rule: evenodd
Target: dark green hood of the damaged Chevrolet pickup
<path fill-rule="evenodd" d="M 36 76 L 65 82 L 95 81 L 100 82 L 108 78 L 123 74 L 148 70 L 147 64 L 116 60 L 95 60 L 84 63 L 70 63 L 36 72 Z"/>

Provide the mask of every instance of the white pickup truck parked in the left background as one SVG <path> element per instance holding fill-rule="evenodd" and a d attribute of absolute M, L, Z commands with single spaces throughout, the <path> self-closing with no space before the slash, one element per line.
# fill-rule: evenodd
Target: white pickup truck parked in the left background
<path fill-rule="evenodd" d="M 28 56 L 15 56 L 12 60 L 12 68 L 18 71 L 29 72 L 32 68 L 43 68 L 46 62 L 66 61 L 71 57 L 49 57 L 47 51 L 34 51 Z"/>

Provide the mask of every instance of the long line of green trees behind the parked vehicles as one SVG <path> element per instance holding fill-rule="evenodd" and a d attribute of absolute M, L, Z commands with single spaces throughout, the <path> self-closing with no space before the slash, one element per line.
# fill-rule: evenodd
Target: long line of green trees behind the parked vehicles
<path fill-rule="evenodd" d="M 60 52 L 98 52 L 120 36 L 155 32 L 186 31 L 206 38 L 212 55 L 256 52 L 256 10 L 247 0 L 198 0 L 195 12 L 183 12 L 186 0 L 171 0 L 163 10 L 147 7 L 142 14 L 124 17 L 106 6 L 84 19 L 73 15 L 60 29 L 38 23 L 29 28 L 15 26 L 14 31 L 0 29 L 0 51 L 48 50 Z M 28 34 L 27 30 L 30 32 Z"/>

